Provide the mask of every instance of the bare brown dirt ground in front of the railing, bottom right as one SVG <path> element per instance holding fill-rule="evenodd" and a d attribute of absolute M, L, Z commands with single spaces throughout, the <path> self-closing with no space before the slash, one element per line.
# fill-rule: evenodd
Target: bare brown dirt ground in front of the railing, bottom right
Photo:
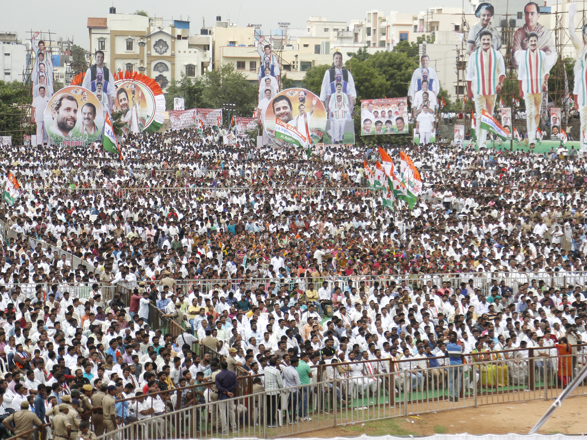
<path fill-rule="evenodd" d="M 420 414 L 406 418 L 357 423 L 296 435 L 303 438 L 329 438 L 357 435 L 433 435 L 433 434 L 528 434 L 552 400 L 484 405 Z M 587 432 L 587 396 L 566 399 L 539 431 L 540 434 L 583 434 Z M 413 422 L 413 423 L 412 423 Z"/>

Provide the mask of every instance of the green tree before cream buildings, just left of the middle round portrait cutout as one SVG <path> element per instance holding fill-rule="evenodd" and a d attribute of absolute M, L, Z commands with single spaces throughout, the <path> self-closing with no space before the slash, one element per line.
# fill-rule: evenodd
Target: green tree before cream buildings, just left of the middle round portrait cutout
<path fill-rule="evenodd" d="M 234 67 L 227 63 L 206 72 L 203 81 L 204 101 L 214 109 L 220 109 L 224 103 L 236 104 L 236 116 L 249 117 L 258 103 L 258 87 Z"/>

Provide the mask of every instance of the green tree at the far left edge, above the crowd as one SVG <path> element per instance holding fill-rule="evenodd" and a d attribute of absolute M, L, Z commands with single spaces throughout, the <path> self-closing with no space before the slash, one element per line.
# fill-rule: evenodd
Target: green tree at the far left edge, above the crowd
<path fill-rule="evenodd" d="M 12 136 L 14 144 L 22 145 L 23 135 L 33 133 L 33 124 L 23 116 L 31 100 L 31 87 L 0 81 L 0 136 Z"/>

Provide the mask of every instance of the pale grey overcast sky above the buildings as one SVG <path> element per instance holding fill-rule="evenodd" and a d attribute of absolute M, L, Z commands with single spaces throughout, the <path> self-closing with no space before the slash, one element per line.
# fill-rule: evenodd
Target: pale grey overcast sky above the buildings
<path fill-rule="evenodd" d="M 461 6 L 463 0 L 444 0 L 444 6 Z M 468 4 L 468 1 L 465 2 Z M 296 2 L 261 2 L 251 0 L 214 0 L 211 2 L 168 2 L 153 0 L 83 1 L 83 2 L 47 2 L 46 0 L 27 0 L 5 2 L 5 12 L 0 14 L 0 31 L 16 31 L 22 40 L 28 39 L 29 31 L 51 31 L 57 36 L 72 37 L 73 42 L 89 49 L 87 17 L 105 17 L 111 5 L 118 13 L 133 13 L 137 9 L 147 11 L 150 16 L 163 16 L 164 23 L 171 19 L 191 21 L 192 35 L 199 33 L 204 16 L 207 26 L 214 25 L 217 15 L 238 26 L 249 23 L 261 24 L 268 32 L 277 28 L 277 22 L 290 22 L 292 28 L 305 28 L 309 16 L 325 16 L 329 20 L 346 21 L 364 19 L 367 11 L 382 8 L 397 8 L 399 12 L 418 13 L 433 5 L 426 0 L 412 2 L 382 2 L 376 0 L 339 0 L 338 2 L 317 2 L 315 0 L 298 0 Z M 287 5 L 287 6 L 285 6 Z M 295 5 L 295 8 L 291 7 Z M 285 6 L 285 7 L 284 7 Z M 6 11 L 8 9 L 8 11 Z M 30 11 L 30 12 L 29 12 Z M 280 11 L 280 12 L 278 12 Z M 390 9 L 383 9 L 389 14 Z M 32 13 L 31 13 L 32 12 Z"/>

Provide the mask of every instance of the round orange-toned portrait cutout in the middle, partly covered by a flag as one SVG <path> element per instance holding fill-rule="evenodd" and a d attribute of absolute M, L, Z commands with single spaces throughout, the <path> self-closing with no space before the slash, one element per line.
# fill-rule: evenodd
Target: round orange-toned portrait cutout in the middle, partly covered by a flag
<path fill-rule="evenodd" d="M 286 89 L 279 92 L 265 110 L 264 131 L 270 141 L 275 140 L 275 120 L 294 127 L 312 145 L 317 144 L 326 131 L 326 109 L 318 96 L 306 89 Z"/>

